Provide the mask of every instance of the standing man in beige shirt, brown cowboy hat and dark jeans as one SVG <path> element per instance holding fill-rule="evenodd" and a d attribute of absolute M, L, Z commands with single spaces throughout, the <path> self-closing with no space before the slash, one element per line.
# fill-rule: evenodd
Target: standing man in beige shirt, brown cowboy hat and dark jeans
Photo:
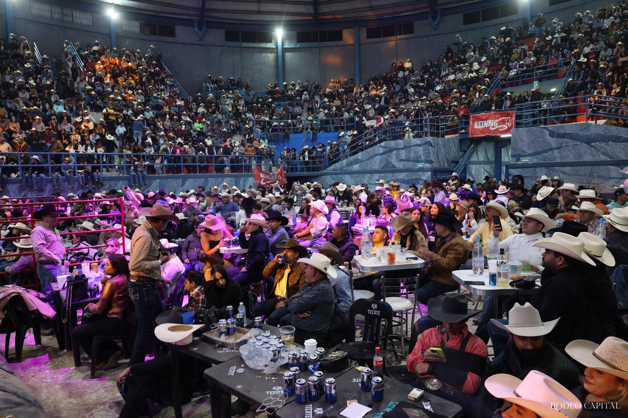
<path fill-rule="evenodd" d="M 141 208 L 140 215 L 146 222 L 135 230 L 131 239 L 131 261 L 129 262 L 129 295 L 135 304 L 138 334 L 135 337 L 129 367 L 144 361 L 153 334 L 154 318 L 163 311 L 156 281 L 161 279 L 161 265 L 170 257 L 170 250 L 161 254 L 158 235 L 168 222 L 178 222 L 170 206 L 155 203 L 152 208 Z"/>

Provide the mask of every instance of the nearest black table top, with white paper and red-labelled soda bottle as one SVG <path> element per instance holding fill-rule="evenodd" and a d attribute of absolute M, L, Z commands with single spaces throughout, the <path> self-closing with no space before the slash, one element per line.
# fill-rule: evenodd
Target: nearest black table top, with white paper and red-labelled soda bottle
<path fill-rule="evenodd" d="M 332 376 L 325 375 L 325 378 L 327 377 Z M 436 414 L 445 415 L 446 417 L 462 415 L 460 405 L 432 394 L 423 394 L 418 402 L 408 400 L 408 394 L 412 392 L 413 389 L 414 388 L 410 385 L 398 382 L 393 378 L 384 377 L 384 400 L 376 402 L 372 399 L 370 391 L 364 392 L 360 389 L 360 373 L 358 373 L 357 370 L 349 370 L 349 372 L 343 373 L 336 378 L 336 402 L 333 404 L 325 402 L 324 396 L 314 402 L 310 401 L 308 398 L 305 404 L 290 402 L 290 404 L 284 405 L 277 410 L 276 415 L 283 418 L 309 418 L 317 416 L 315 415 L 315 410 L 322 409 L 323 415 L 328 417 L 340 417 L 340 412 L 347 407 L 347 400 L 357 400 L 360 405 L 372 408 L 364 415 L 365 417 L 370 417 L 371 414 L 382 412 L 391 401 L 401 402 L 402 400 L 423 407 L 429 406 Z"/>

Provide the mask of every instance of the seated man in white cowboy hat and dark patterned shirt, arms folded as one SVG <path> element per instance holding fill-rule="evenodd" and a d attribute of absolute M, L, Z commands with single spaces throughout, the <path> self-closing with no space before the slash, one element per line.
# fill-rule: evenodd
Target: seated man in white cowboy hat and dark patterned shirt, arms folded
<path fill-rule="evenodd" d="M 279 320 L 280 325 L 295 327 L 295 342 L 303 344 L 314 338 L 318 345 L 327 339 L 327 331 L 332 322 L 335 309 L 335 295 L 328 277 L 337 273 L 327 256 L 314 253 L 309 259 L 298 259 L 307 264 L 305 267 L 306 283 L 301 290 L 288 299 L 290 314 Z"/>

